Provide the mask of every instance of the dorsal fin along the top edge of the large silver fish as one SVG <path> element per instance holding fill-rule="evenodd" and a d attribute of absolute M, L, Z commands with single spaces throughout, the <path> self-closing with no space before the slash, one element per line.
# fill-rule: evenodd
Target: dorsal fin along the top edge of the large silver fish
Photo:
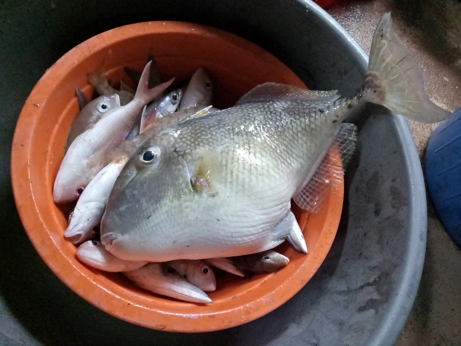
<path fill-rule="evenodd" d="M 341 95 L 339 95 L 337 90 L 307 90 L 293 85 L 268 82 L 255 86 L 243 95 L 235 105 L 238 106 L 251 102 L 294 100 L 332 102 L 340 97 Z"/>

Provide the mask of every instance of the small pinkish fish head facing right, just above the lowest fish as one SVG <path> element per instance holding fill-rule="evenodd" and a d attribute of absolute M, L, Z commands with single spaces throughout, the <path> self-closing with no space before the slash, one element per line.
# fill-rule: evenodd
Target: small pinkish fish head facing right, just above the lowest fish
<path fill-rule="evenodd" d="M 174 260 L 165 264 L 175 269 L 202 291 L 209 292 L 216 289 L 213 269 L 203 260 Z"/>

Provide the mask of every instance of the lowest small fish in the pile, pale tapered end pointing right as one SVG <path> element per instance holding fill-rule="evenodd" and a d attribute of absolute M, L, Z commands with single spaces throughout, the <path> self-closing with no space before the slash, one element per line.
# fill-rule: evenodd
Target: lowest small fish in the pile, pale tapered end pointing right
<path fill-rule="evenodd" d="M 192 303 L 213 303 L 207 293 L 192 285 L 175 270 L 169 272 L 164 263 L 148 263 L 123 274 L 150 292 Z"/>

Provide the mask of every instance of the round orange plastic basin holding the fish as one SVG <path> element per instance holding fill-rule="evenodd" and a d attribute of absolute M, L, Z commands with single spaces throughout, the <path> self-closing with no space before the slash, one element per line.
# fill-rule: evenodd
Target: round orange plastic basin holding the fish
<path fill-rule="evenodd" d="M 12 185 L 19 215 L 32 244 L 58 277 L 101 310 L 149 328 L 204 332 L 252 321 L 290 299 L 313 276 L 330 250 L 343 206 L 339 185 L 318 215 L 294 207 L 309 253 L 288 245 L 278 251 L 290 263 L 277 273 L 251 279 L 226 274 L 210 292 L 212 304 L 192 304 L 143 291 L 122 274 L 104 273 L 78 261 L 76 247 L 65 239 L 66 208 L 53 203 L 53 182 L 65 139 L 78 113 L 75 88 L 91 96 L 87 74 L 101 66 L 115 82 L 123 66 L 142 71 L 154 54 L 161 77 L 190 77 L 204 66 L 214 81 L 215 104 L 224 108 L 254 86 L 277 82 L 305 87 L 282 62 L 230 33 L 179 22 L 149 22 L 106 31 L 59 59 L 30 93 L 19 116 L 12 144 Z M 332 160 L 340 161 L 339 152 Z M 67 208 L 69 209 L 69 208 Z"/>

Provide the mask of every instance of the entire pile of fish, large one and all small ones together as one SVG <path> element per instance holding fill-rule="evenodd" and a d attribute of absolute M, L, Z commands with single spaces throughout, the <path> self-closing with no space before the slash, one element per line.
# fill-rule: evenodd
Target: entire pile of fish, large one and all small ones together
<path fill-rule="evenodd" d="M 212 267 L 273 272 L 290 261 L 272 250 L 285 240 L 307 253 L 290 203 L 317 213 L 341 180 L 357 136 L 349 114 L 372 102 L 422 122 L 451 116 L 425 95 L 391 23 L 386 13 L 363 88 L 346 98 L 269 82 L 219 110 L 204 68 L 167 90 L 173 80 L 161 83 L 152 58 L 142 74 L 125 68 L 136 92 L 91 76 L 100 96 L 77 89 L 81 112 L 53 188 L 55 203 L 77 200 L 64 233 L 77 257 L 151 292 L 211 303 Z M 338 149 L 343 165 L 331 160 Z"/>

